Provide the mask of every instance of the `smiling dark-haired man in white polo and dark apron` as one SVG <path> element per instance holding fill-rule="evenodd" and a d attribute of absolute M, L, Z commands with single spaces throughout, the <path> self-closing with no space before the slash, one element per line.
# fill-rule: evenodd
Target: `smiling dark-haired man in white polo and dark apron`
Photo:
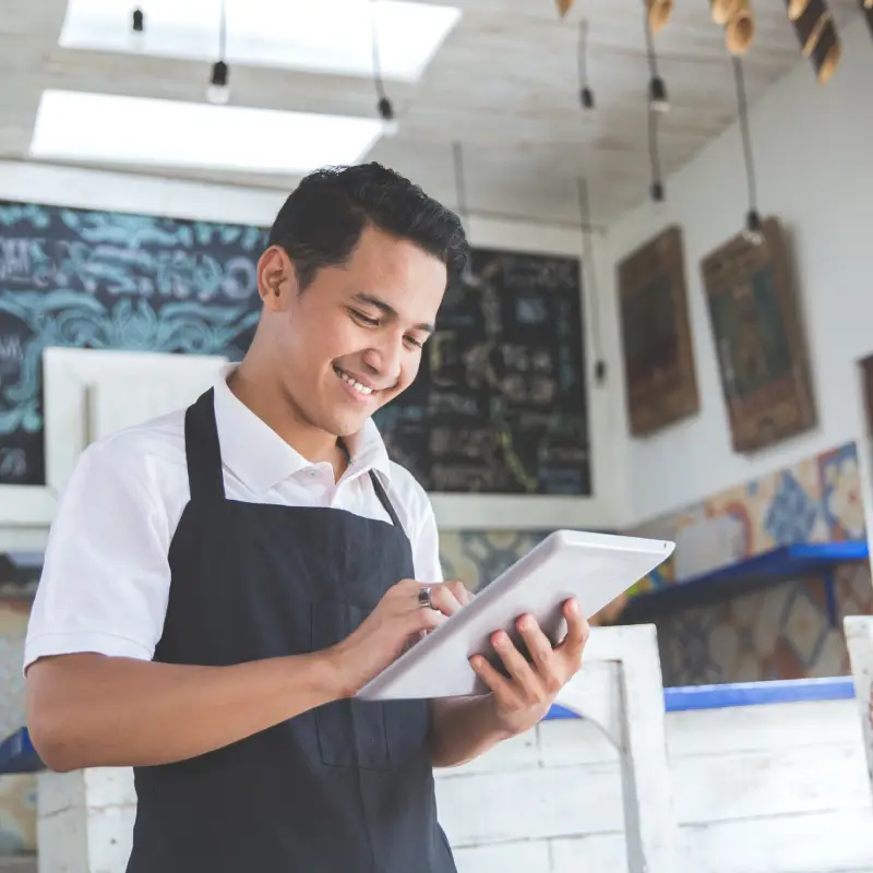
<path fill-rule="evenodd" d="M 415 379 L 456 216 L 375 164 L 307 177 L 258 265 L 238 367 L 188 410 L 88 446 L 52 526 L 25 651 L 57 770 L 134 767 L 129 873 L 449 873 L 434 766 L 525 731 L 578 669 L 522 619 L 486 697 L 355 692 L 468 599 L 372 414 Z"/>

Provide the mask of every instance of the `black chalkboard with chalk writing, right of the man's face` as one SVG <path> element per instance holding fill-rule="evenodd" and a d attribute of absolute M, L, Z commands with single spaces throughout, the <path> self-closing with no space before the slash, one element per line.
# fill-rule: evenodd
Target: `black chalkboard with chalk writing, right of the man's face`
<path fill-rule="evenodd" d="M 429 491 L 591 493 L 579 261 L 478 249 L 418 379 L 374 416 Z"/>

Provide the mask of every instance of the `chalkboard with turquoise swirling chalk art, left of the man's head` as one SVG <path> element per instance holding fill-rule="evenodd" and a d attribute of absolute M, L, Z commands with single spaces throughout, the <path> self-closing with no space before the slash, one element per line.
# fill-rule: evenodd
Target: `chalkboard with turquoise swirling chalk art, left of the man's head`
<path fill-rule="evenodd" d="M 242 357 L 266 231 L 0 201 L 0 483 L 45 482 L 46 346 Z"/>

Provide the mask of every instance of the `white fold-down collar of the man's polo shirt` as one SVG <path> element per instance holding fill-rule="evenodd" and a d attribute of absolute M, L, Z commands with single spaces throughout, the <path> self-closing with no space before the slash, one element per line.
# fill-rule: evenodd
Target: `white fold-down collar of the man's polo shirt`
<path fill-rule="evenodd" d="M 227 379 L 236 366 L 223 367 L 213 386 L 222 461 L 249 489 L 263 493 L 313 465 L 230 391 Z M 354 477 L 373 469 L 390 481 L 388 453 L 372 419 L 367 419 L 345 442 L 351 456 L 348 475 Z"/>

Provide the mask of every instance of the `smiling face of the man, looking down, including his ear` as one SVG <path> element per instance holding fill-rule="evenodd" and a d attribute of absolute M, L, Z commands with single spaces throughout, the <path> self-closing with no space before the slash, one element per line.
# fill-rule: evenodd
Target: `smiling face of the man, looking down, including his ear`
<path fill-rule="evenodd" d="M 347 263 L 320 270 L 302 294 L 282 250 L 264 253 L 260 273 L 271 357 L 307 423 L 356 433 L 411 384 L 445 291 L 438 258 L 367 227 Z"/>

